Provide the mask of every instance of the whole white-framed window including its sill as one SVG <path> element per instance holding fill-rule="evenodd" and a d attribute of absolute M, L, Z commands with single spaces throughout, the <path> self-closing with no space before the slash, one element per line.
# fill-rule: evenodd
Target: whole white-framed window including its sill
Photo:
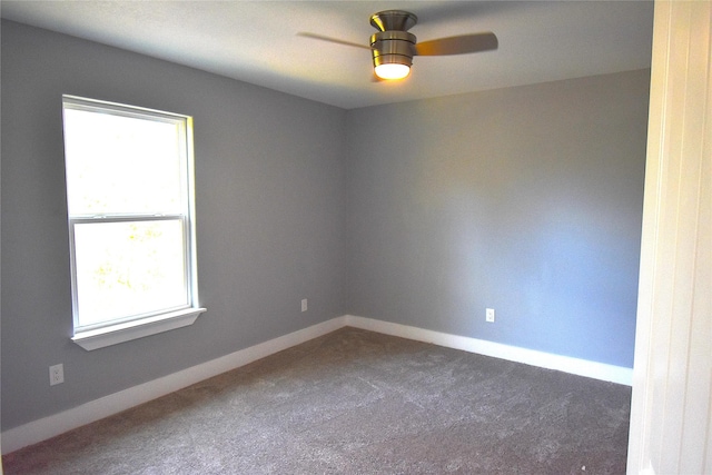
<path fill-rule="evenodd" d="M 198 306 L 191 118 L 62 101 L 73 340 L 190 325 Z"/>

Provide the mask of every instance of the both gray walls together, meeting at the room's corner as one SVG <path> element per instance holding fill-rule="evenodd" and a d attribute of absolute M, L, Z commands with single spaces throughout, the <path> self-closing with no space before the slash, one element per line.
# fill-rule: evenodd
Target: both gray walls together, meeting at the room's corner
<path fill-rule="evenodd" d="M 647 70 L 344 111 L 1 33 L 3 431 L 347 313 L 632 366 Z M 194 326 L 69 340 L 62 93 L 195 117 Z"/>

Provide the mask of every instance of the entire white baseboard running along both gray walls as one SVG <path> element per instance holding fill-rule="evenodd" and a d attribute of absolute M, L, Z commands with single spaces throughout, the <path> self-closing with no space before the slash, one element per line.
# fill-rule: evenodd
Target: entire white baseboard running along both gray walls
<path fill-rule="evenodd" d="M 342 327 L 350 326 L 377 331 L 386 335 L 418 342 L 432 343 L 448 348 L 477 353 L 495 358 L 516 363 L 557 369 L 578 376 L 586 376 L 630 386 L 633 380 L 633 369 L 603 363 L 587 362 L 567 356 L 552 355 L 526 348 L 503 345 L 458 335 L 426 330 L 407 325 L 375 320 L 372 318 L 344 315 L 328 321 L 304 328 L 298 331 L 280 336 L 275 339 L 231 353 L 190 368 L 182 369 L 168 376 L 110 394 L 91 400 L 69 410 L 55 414 L 31 423 L 11 428 L 2 433 L 2 453 L 8 454 L 28 445 L 37 444 L 67 431 L 99 420 L 103 417 L 120 413 L 139 404 L 148 403 L 157 397 L 199 383 L 230 369 L 253 363 L 291 346 L 326 335 Z"/>

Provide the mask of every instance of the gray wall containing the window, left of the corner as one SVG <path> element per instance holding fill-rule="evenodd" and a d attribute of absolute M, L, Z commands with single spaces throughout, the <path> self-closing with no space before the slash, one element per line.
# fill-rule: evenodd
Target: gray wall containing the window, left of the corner
<path fill-rule="evenodd" d="M 1 79 L 3 429 L 345 313 L 345 111 L 6 21 Z M 69 340 L 62 93 L 194 116 L 208 311 L 191 327 Z"/>

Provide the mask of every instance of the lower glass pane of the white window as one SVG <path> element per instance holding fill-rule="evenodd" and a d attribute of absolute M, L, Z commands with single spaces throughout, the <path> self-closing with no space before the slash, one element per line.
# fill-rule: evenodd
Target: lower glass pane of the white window
<path fill-rule="evenodd" d="M 180 219 L 73 229 L 80 327 L 189 305 Z"/>

